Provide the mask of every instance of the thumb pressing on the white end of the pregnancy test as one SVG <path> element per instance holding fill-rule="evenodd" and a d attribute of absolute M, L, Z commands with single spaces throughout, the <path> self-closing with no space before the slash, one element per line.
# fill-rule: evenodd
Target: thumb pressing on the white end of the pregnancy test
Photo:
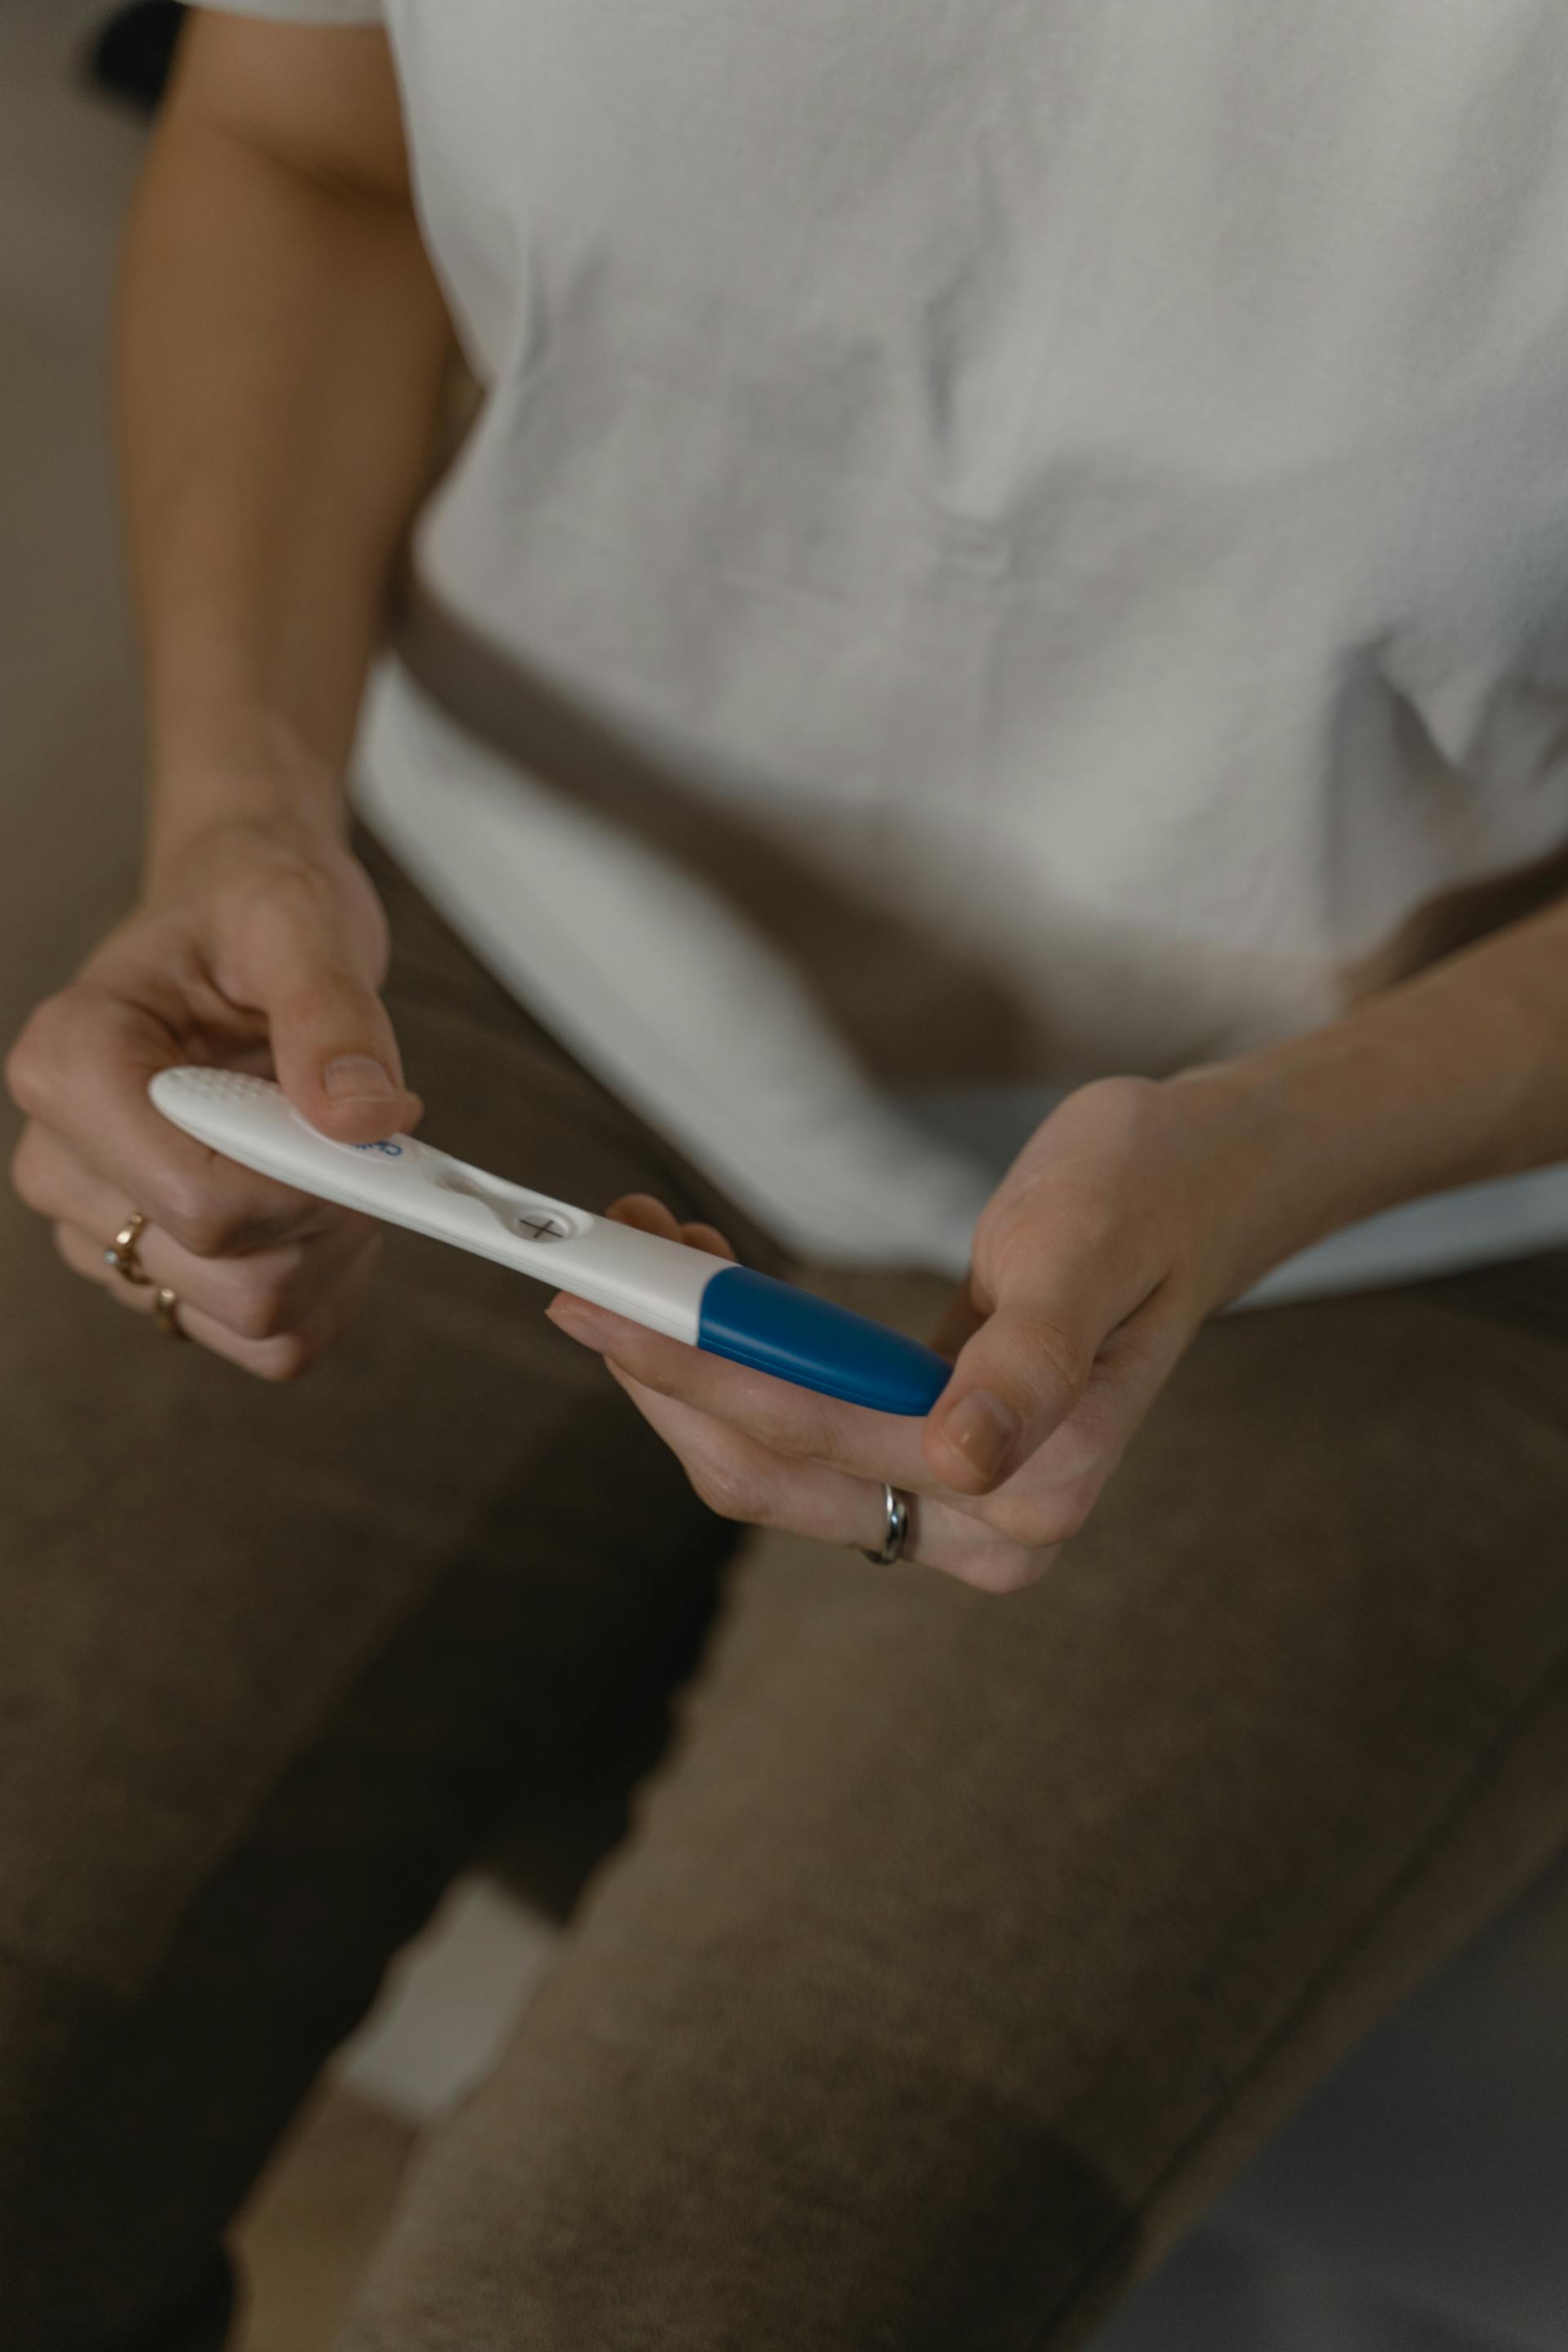
<path fill-rule="evenodd" d="M 266 1016 L 277 1084 L 334 1143 L 376 1143 L 421 1112 L 402 1082 L 386 1004 L 350 927 L 324 908 L 254 906 L 233 941 L 247 1000 Z"/>

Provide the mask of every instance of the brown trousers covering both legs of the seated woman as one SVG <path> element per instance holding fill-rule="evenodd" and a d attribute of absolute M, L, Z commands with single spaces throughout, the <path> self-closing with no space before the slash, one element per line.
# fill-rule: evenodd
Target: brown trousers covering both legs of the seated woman
<path fill-rule="evenodd" d="M 780 1265 L 376 873 L 433 1136 Z M 1006 1602 L 731 1566 L 435 1244 L 292 1390 L 16 1209 L 0 1294 L 7 2352 L 223 2343 L 237 2201 L 503 1835 L 571 1926 L 343 2352 L 1063 2352 L 1568 1830 L 1568 1256 L 1213 1324 Z"/>

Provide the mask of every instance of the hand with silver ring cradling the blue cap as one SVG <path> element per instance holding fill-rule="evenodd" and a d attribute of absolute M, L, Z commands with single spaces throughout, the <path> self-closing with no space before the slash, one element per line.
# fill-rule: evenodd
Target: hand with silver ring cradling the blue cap
<path fill-rule="evenodd" d="M 973 1237 L 936 1345 L 954 1371 L 929 1421 L 837 1404 L 559 1296 L 726 1519 L 877 1548 L 884 1484 L 912 1498 L 905 1557 L 985 1592 L 1048 1569 L 1084 1526 L 1199 1324 L 1262 1272 L 1246 1256 L 1253 1115 L 1222 1073 L 1105 1080 L 1030 1141 Z M 632 1197 L 611 1216 L 731 1256 Z"/>

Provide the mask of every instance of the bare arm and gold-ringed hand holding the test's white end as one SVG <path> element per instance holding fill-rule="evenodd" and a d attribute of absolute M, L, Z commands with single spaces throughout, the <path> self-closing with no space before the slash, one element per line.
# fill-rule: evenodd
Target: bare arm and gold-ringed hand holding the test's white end
<path fill-rule="evenodd" d="M 447 355 L 381 35 L 197 12 L 125 261 L 143 887 L 7 1077 L 16 1190 L 66 1263 L 146 1310 L 103 1265 L 143 1211 L 183 1329 L 266 1378 L 346 1327 L 374 1230 L 214 1160 L 146 1084 L 176 1061 L 273 1070 L 346 1143 L 418 1115 L 341 771 Z"/>

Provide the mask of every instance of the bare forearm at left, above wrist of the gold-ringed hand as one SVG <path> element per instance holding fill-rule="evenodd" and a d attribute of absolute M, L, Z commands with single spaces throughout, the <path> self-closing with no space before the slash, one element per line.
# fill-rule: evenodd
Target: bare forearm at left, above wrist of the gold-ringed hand
<path fill-rule="evenodd" d="M 214 823 L 341 821 L 447 355 L 407 202 L 172 111 L 132 223 L 120 367 L 153 866 Z"/>

